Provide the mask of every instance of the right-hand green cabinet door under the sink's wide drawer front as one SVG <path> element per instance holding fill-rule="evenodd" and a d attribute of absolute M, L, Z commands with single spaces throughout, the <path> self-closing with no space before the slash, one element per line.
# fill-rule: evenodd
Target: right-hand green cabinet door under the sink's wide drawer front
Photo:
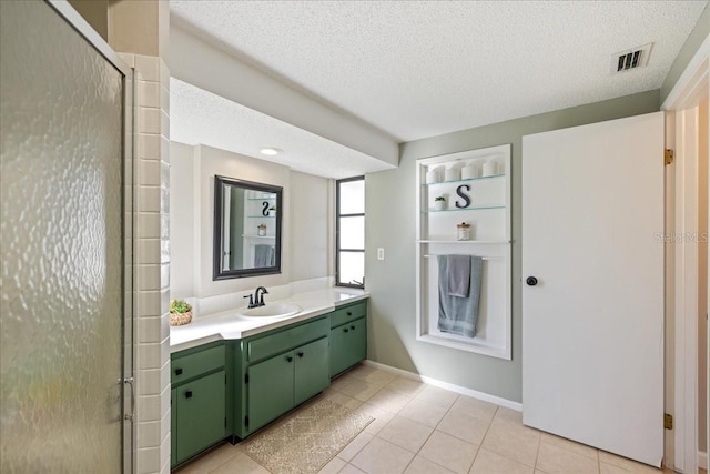
<path fill-rule="evenodd" d="M 300 404 L 331 385 L 328 339 L 323 337 L 294 351 L 295 404 Z"/>

